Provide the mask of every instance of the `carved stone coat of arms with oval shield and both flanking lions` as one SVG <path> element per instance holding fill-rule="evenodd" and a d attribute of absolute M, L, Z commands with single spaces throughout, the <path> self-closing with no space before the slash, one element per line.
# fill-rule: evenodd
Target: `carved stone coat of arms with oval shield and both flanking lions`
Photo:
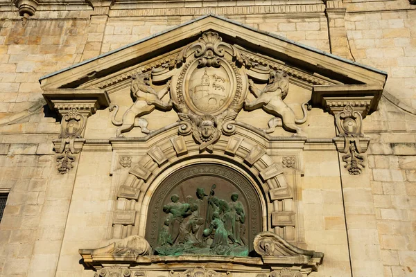
<path fill-rule="evenodd" d="M 268 128 L 254 126 L 263 134 L 283 126 L 297 136 L 304 136 L 297 125 L 306 122 L 308 104 L 302 104 L 303 118 L 296 118 L 284 102 L 289 90 L 288 75 L 266 66 L 268 84 L 259 89 L 260 84 L 254 84 L 258 79 L 251 79 L 248 74 L 250 68 L 256 66 L 239 48 L 223 42 L 217 33 L 203 33 L 171 62 L 132 76 L 131 91 L 135 102 L 125 111 L 122 120 L 116 120 L 117 105 L 110 109 L 116 110 L 112 123 L 120 126 L 116 136 L 123 136 L 123 132 L 133 127 L 140 127 L 141 132 L 149 134 L 148 122 L 141 116 L 154 109 L 168 111 L 172 107 L 180 119 L 179 134 L 192 134 L 200 144 L 200 150 L 212 150 L 212 144 L 221 134 L 234 134 L 235 125 L 238 125 L 235 119 L 243 108 L 248 111 L 262 108 L 274 116 L 269 120 Z M 165 87 L 155 91 L 150 82 L 152 78 L 164 82 Z M 255 97 L 252 101 L 247 99 L 249 91 Z M 162 100 L 165 95 L 169 96 L 168 100 Z"/>

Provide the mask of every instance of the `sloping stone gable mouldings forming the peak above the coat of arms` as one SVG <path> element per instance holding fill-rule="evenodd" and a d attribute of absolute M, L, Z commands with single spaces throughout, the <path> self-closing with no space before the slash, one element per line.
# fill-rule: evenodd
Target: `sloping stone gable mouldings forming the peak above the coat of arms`
<path fill-rule="evenodd" d="M 386 73 L 315 48 L 298 44 L 216 15 L 207 15 L 146 37 L 114 51 L 75 64 L 40 79 L 44 89 L 89 87 L 111 82 L 114 77 L 152 62 L 163 62 L 204 32 L 218 33 L 224 42 L 257 55 L 258 62 L 281 64 L 293 75 L 319 84 L 370 84 L 383 87 Z M 162 60 L 162 61 L 161 61 Z M 297 72 L 299 71 L 299 72 Z M 89 85 L 88 85 L 89 84 Z"/>

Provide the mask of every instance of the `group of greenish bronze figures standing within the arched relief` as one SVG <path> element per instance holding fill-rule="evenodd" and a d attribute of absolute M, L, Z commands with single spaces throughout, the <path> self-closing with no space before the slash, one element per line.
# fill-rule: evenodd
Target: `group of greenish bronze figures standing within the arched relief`
<path fill-rule="evenodd" d="M 155 251 L 162 256 L 184 254 L 248 256 L 245 208 L 232 193 L 231 202 L 196 189 L 196 199 L 188 195 L 180 202 L 177 194 L 163 206 L 165 214 Z"/>

